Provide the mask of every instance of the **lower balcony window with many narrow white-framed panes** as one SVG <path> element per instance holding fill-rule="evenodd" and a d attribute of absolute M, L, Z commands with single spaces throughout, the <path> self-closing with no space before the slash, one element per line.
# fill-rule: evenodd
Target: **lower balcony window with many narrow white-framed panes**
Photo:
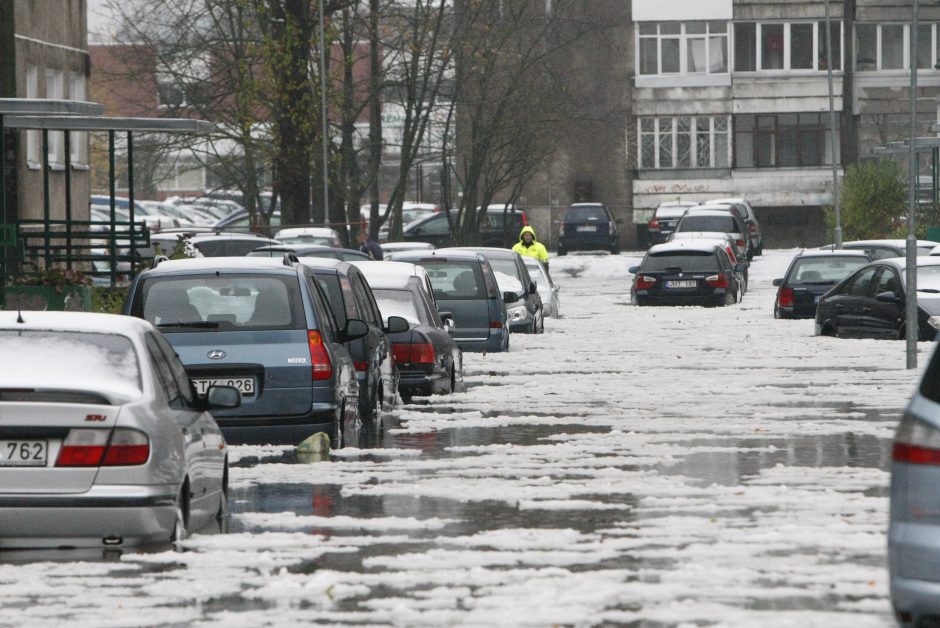
<path fill-rule="evenodd" d="M 727 168 L 727 116 L 640 118 L 639 167 Z"/>

